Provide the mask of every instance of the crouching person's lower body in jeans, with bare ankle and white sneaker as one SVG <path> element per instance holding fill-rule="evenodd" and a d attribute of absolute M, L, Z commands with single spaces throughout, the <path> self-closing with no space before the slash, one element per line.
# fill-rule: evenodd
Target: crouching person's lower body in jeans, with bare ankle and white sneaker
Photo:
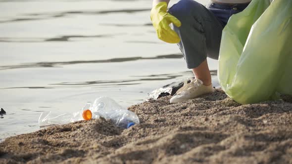
<path fill-rule="evenodd" d="M 215 4 L 208 9 L 195 0 L 180 0 L 169 9 L 181 27 L 173 27 L 181 39 L 178 43 L 187 67 L 192 69 L 195 80 L 185 82 L 170 103 L 178 103 L 214 91 L 206 57 L 218 59 L 221 35 L 232 14 L 241 12 L 248 4 Z"/>

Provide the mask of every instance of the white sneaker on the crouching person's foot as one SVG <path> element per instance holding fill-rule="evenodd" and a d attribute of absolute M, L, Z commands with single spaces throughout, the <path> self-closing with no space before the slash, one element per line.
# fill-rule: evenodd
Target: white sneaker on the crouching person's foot
<path fill-rule="evenodd" d="M 188 83 L 185 81 L 184 86 L 181 87 L 176 94 L 170 99 L 170 103 L 179 103 L 186 100 L 193 99 L 203 94 L 213 93 L 214 89 L 212 84 L 205 86 L 203 82 L 199 79 L 192 79 Z"/>

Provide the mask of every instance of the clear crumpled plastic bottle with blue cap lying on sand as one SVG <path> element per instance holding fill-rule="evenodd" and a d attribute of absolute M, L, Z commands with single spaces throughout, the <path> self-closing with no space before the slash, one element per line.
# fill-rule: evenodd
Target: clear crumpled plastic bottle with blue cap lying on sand
<path fill-rule="evenodd" d="M 113 99 L 106 96 L 97 98 L 90 110 L 93 113 L 93 117 L 101 116 L 105 119 L 110 119 L 120 127 L 129 128 L 134 124 L 140 123 L 138 116 L 134 112 L 123 108 Z"/>

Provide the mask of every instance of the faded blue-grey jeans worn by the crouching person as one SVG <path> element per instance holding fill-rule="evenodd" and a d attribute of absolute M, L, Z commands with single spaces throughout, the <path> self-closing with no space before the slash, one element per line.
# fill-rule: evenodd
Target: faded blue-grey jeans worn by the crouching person
<path fill-rule="evenodd" d="M 173 26 L 181 41 L 178 43 L 187 67 L 198 67 L 207 57 L 218 60 L 221 35 L 232 14 L 239 13 L 248 4 L 210 3 L 207 7 L 195 0 L 180 0 L 168 12 L 182 22 Z"/>

